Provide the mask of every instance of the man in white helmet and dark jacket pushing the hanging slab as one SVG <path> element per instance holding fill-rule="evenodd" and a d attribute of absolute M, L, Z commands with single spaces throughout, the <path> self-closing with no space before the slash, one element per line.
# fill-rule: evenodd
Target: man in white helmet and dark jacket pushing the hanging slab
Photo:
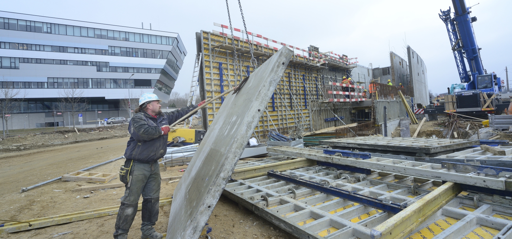
<path fill-rule="evenodd" d="M 160 200 L 160 167 L 158 159 L 167 151 L 169 125 L 204 104 L 190 105 L 173 112 L 162 112 L 154 93 L 144 93 L 128 126 L 131 136 L 124 151 L 124 165 L 119 179 L 125 185 L 124 196 L 116 218 L 115 239 L 126 239 L 142 194 L 142 239 L 161 239 L 153 226 L 158 220 Z"/>

